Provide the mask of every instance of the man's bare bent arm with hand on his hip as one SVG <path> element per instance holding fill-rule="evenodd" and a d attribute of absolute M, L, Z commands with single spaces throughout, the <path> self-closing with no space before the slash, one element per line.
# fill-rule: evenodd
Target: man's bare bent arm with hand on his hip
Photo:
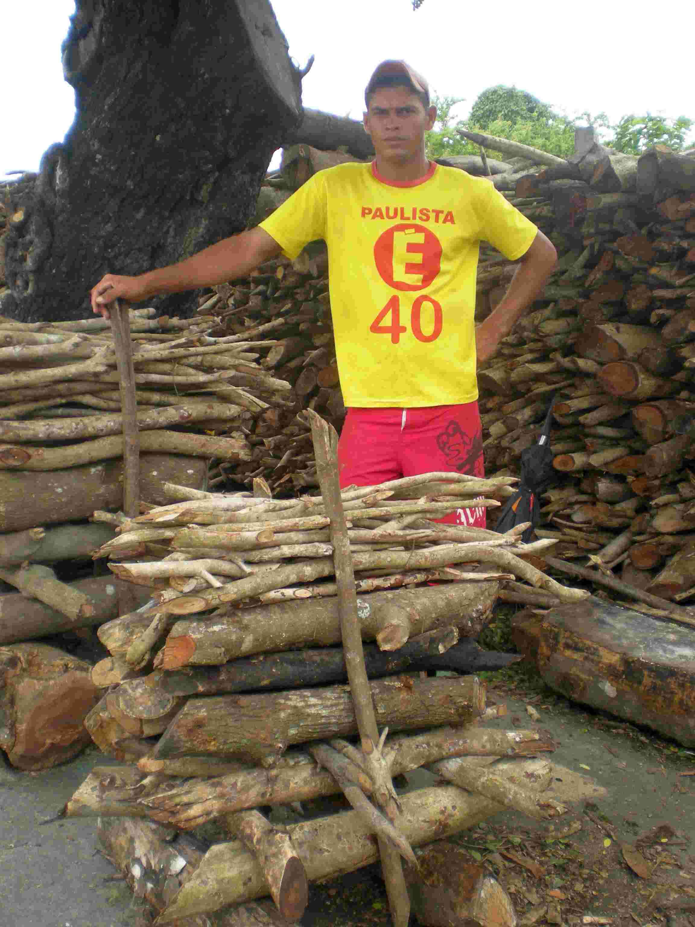
<path fill-rule="evenodd" d="M 484 322 L 475 326 L 478 363 L 488 361 L 495 355 L 501 339 L 510 334 L 514 325 L 542 292 L 557 260 L 554 245 L 538 231 L 531 246 L 519 259 L 519 267 L 504 298 Z"/>

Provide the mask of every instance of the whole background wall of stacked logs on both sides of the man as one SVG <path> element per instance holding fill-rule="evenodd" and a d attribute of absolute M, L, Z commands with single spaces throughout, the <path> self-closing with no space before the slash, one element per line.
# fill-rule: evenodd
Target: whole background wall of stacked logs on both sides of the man
<path fill-rule="evenodd" d="M 611 544 L 602 565 L 622 558 L 616 565 L 631 584 L 687 597 L 695 569 L 682 552 L 695 539 L 695 492 L 683 462 L 695 446 L 676 429 L 688 430 L 683 416 L 695 400 L 695 158 L 660 147 L 619 155 L 591 130 L 577 130 L 568 160 L 490 136 L 472 140 L 501 152 L 505 161 L 487 159 L 490 181 L 560 258 L 543 298 L 479 371 L 486 471 L 519 473 L 521 451 L 537 439 L 555 396 L 558 487 L 539 537 L 558 540 L 553 553 L 571 558 Z M 287 158 L 292 170 L 272 176 L 264 197 L 284 197 L 338 162 L 327 156 L 297 146 Z M 485 172 L 478 159 L 448 163 Z M 250 426 L 253 461 L 237 468 L 248 485 L 254 476 L 272 489 L 317 485 L 309 429 L 296 413 L 310 405 L 342 422 L 325 266 L 322 250 L 309 248 L 294 265 L 271 261 L 250 280 L 217 288 L 225 330 L 274 326 L 282 345 L 262 363 L 294 389 L 293 407 Z M 514 270 L 481 248 L 476 321 L 499 303 Z"/>

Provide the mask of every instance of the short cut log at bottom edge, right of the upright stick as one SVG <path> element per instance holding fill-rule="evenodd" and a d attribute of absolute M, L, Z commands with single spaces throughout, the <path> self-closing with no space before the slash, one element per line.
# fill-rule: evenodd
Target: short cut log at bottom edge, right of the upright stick
<path fill-rule="evenodd" d="M 512 899 L 494 876 L 448 840 L 416 854 L 420 869 L 408 871 L 412 911 L 423 927 L 461 927 L 474 922 L 516 927 Z"/>

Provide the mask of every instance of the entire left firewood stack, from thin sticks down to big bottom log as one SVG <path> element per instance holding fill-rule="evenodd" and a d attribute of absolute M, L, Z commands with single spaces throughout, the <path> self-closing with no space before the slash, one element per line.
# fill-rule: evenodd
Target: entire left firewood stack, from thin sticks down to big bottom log
<path fill-rule="evenodd" d="M 193 488 L 225 480 L 210 474 L 211 459 L 222 467 L 249 459 L 241 429 L 289 388 L 256 363 L 253 340 L 212 337 L 213 316 L 154 315 L 131 316 L 140 490 L 150 505 L 165 501 L 163 480 Z M 272 342 L 263 341 L 262 353 L 269 349 Z M 92 553 L 113 538 L 114 527 L 89 519 L 95 509 L 118 509 L 123 497 L 109 323 L 0 319 L 0 367 L 0 747 L 13 765 L 35 769 L 89 742 L 82 721 L 99 690 L 87 663 L 27 641 L 67 634 L 54 642 L 68 646 L 76 634 L 88 639 L 91 627 L 146 595 L 93 575 Z"/>

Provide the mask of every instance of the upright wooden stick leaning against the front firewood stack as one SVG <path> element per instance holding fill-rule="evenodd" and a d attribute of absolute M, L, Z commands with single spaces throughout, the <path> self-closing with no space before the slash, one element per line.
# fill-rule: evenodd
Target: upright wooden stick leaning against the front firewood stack
<path fill-rule="evenodd" d="M 338 437 L 335 429 L 325 423 L 313 411 L 308 410 L 306 417 L 311 425 L 311 437 L 313 439 L 316 469 L 323 504 L 326 513 L 331 519 L 330 529 L 335 563 L 335 581 L 338 587 L 340 629 L 345 651 L 347 679 L 349 679 L 350 692 L 352 692 L 362 752 L 365 758 L 377 760 L 379 764 L 377 766 L 376 763 L 373 763 L 373 769 L 371 770 L 374 785 L 377 786 L 377 776 L 381 780 L 378 781 L 378 787 L 374 789 L 374 797 L 377 803 L 384 808 L 388 819 L 395 823 L 399 814 L 396 793 L 391 781 L 390 771 L 386 768 L 381 756 L 382 743 L 379 740 L 372 691 L 367 677 L 367 670 L 364 666 L 357 592 L 355 591 L 355 573 L 352 567 L 352 555 L 347 538 L 347 524 L 343 513 L 337 476 L 336 451 Z M 390 844 L 387 844 L 381 837 L 378 837 L 378 843 L 379 856 L 384 870 L 386 894 L 388 895 L 394 927 L 407 927 L 411 914 L 411 900 L 408 895 L 408 886 L 405 882 L 398 851 Z"/>

